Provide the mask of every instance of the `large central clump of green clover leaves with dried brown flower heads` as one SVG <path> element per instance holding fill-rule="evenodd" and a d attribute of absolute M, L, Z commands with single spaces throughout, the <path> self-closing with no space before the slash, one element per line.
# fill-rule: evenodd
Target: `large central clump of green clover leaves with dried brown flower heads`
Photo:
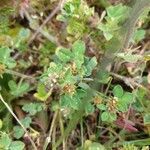
<path fill-rule="evenodd" d="M 84 80 L 84 77 L 90 76 L 97 65 L 95 57 L 87 58 L 84 53 L 85 44 L 79 40 L 73 43 L 71 49 L 58 48 L 56 50 L 57 61 L 51 63 L 45 75 L 41 77 L 41 81 L 45 82 L 44 84 L 50 82 L 52 87 L 55 84 L 60 86 L 62 89 L 60 95 L 62 108 L 72 110 L 80 108 L 86 88 L 86 83 L 82 80 Z M 77 89 L 78 84 L 82 89 Z M 42 92 L 42 90 L 40 91 Z M 90 103 L 85 108 L 87 113 L 94 111 L 94 107 Z"/>

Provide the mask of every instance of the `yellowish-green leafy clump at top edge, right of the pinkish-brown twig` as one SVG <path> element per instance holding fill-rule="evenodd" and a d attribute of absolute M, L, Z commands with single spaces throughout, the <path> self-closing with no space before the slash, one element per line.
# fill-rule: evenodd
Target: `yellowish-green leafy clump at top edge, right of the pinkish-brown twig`
<path fill-rule="evenodd" d="M 68 1 L 61 15 L 57 19 L 66 22 L 67 33 L 69 41 L 72 39 L 79 39 L 87 32 L 88 26 L 86 25 L 90 16 L 94 14 L 94 9 L 89 8 L 84 0 L 70 0 Z"/>

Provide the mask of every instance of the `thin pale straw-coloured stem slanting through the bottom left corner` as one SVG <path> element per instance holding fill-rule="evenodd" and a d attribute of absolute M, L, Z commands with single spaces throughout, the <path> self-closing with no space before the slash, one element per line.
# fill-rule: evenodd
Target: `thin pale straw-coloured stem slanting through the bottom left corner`
<path fill-rule="evenodd" d="M 24 130 L 24 132 L 26 133 L 26 135 L 28 136 L 28 139 L 30 140 L 34 150 L 37 150 L 37 147 L 35 145 L 35 143 L 33 142 L 32 138 L 30 137 L 28 131 L 26 130 L 26 128 L 24 127 L 24 125 L 21 123 L 21 121 L 18 119 L 18 117 L 15 115 L 15 113 L 11 110 L 11 108 L 9 107 L 9 105 L 5 102 L 5 100 L 3 99 L 2 95 L 0 94 L 0 100 L 2 101 L 2 103 L 6 106 L 6 108 L 8 109 L 8 111 L 12 114 L 12 116 L 16 119 L 16 121 L 18 122 L 18 124 L 22 127 L 22 129 Z"/>

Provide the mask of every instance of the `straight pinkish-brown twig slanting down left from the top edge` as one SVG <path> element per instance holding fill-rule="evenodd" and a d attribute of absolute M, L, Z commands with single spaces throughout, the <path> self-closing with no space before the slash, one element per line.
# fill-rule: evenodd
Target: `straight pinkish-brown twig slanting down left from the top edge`
<path fill-rule="evenodd" d="M 32 43 L 32 41 L 35 39 L 35 37 L 38 35 L 38 33 L 41 32 L 42 28 L 58 13 L 58 11 L 63 7 L 63 5 L 65 4 L 66 0 L 60 0 L 60 2 L 58 3 L 57 7 L 50 13 L 50 15 L 45 19 L 45 21 L 43 22 L 43 24 L 38 27 L 38 29 L 36 30 L 36 32 L 33 34 L 33 36 L 31 37 L 31 39 L 29 40 L 28 44 Z"/>

